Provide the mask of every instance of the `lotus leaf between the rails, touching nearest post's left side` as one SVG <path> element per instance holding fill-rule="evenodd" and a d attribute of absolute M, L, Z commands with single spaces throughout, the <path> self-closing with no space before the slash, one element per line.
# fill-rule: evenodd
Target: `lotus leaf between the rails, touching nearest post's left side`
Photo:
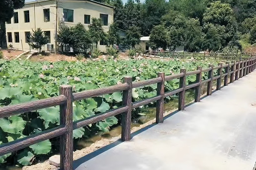
<path fill-rule="evenodd" d="M 52 124 L 60 123 L 60 108 L 50 107 L 38 110 L 41 119 L 44 119 L 44 126 L 47 129 L 49 127 L 49 122 Z"/>

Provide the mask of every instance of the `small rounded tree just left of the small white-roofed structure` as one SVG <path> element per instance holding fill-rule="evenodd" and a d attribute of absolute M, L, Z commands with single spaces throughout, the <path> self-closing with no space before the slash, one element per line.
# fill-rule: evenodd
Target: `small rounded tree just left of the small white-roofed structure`
<path fill-rule="evenodd" d="M 126 44 L 131 45 L 134 48 L 136 44 L 140 43 L 140 37 L 140 28 L 131 26 L 126 32 Z"/>

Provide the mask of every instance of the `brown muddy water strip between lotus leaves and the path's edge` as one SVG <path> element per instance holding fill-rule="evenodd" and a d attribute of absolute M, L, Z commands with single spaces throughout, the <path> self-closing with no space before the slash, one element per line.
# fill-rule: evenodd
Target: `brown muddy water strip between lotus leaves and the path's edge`
<path fill-rule="evenodd" d="M 192 102 L 194 100 L 195 92 L 194 90 L 186 91 L 185 95 L 185 103 L 188 104 L 189 102 Z M 178 108 L 178 97 L 175 97 L 174 99 L 170 100 L 169 102 L 164 104 L 164 110 L 166 112 L 172 111 L 174 109 Z M 144 113 L 142 116 L 140 116 L 137 119 L 133 120 L 133 124 L 131 127 L 138 127 L 152 119 L 155 119 L 156 116 L 156 108 L 145 108 L 141 113 Z M 109 132 L 99 132 L 90 138 L 84 138 L 80 139 L 78 142 L 78 146 L 76 149 L 82 149 L 84 147 L 89 147 L 91 144 L 93 144 L 96 141 L 99 141 L 101 139 L 111 139 L 113 137 L 119 136 L 121 134 L 121 125 L 118 125 L 116 127 L 113 127 Z M 7 166 L 7 167 L 0 167 L 0 170 L 21 170 L 21 167 L 16 166 Z"/>

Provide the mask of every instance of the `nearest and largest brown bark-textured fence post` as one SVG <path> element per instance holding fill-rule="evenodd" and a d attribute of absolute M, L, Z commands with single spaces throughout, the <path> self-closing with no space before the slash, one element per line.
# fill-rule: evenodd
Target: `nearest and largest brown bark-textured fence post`
<path fill-rule="evenodd" d="M 67 98 L 67 102 L 60 105 L 60 125 L 65 125 L 67 133 L 60 136 L 60 168 L 73 170 L 73 94 L 71 85 L 61 85 L 60 95 Z"/>

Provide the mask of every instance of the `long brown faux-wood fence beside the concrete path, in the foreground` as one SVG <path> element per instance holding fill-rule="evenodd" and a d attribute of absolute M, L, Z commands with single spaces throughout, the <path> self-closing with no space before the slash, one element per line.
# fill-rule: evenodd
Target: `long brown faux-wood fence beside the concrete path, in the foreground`
<path fill-rule="evenodd" d="M 236 61 L 225 65 L 219 63 L 218 66 L 209 65 L 209 68 L 197 67 L 195 71 L 186 72 L 185 68 L 180 69 L 179 74 L 165 76 L 163 72 L 158 73 L 158 77 L 154 79 L 143 80 L 139 82 L 132 82 L 132 77 L 124 77 L 123 84 L 113 85 L 106 88 L 99 88 L 95 90 L 72 93 L 70 85 L 60 86 L 60 95 L 48 99 L 40 99 L 34 102 L 26 102 L 17 105 L 8 105 L 0 108 L 0 118 L 12 116 L 18 113 L 35 111 L 42 108 L 60 106 L 60 125 L 50 130 L 45 130 L 42 133 L 17 139 L 13 142 L 0 145 L 0 156 L 11 153 L 37 142 L 51 139 L 60 136 L 60 156 L 61 156 L 61 170 L 73 170 L 73 130 L 79 127 L 84 127 L 111 116 L 122 114 L 122 134 L 121 139 L 128 141 L 131 139 L 131 111 L 142 105 L 157 101 L 156 106 L 156 122 L 163 122 L 164 113 L 164 98 L 174 94 L 179 95 L 178 110 L 185 108 L 185 91 L 190 88 L 195 88 L 195 102 L 200 101 L 201 85 L 207 83 L 207 95 L 212 94 L 212 82 L 217 79 L 217 90 L 221 89 L 222 78 L 224 77 L 224 86 L 228 85 L 228 77 L 230 76 L 230 83 L 239 78 L 249 74 L 256 68 L 256 58 L 251 58 L 242 61 Z M 223 73 L 223 69 L 225 69 Z M 213 71 L 217 70 L 218 75 L 213 77 Z M 208 72 L 208 79 L 202 80 L 202 73 Z M 196 82 L 186 85 L 186 76 L 196 74 Z M 165 92 L 164 82 L 172 79 L 180 79 L 179 88 Z M 132 102 L 132 88 L 138 88 L 146 85 L 157 83 L 157 96 L 144 99 L 137 102 Z M 117 91 L 123 91 L 123 106 L 90 116 L 73 122 L 73 101 L 87 99 L 104 94 L 111 94 Z"/>

